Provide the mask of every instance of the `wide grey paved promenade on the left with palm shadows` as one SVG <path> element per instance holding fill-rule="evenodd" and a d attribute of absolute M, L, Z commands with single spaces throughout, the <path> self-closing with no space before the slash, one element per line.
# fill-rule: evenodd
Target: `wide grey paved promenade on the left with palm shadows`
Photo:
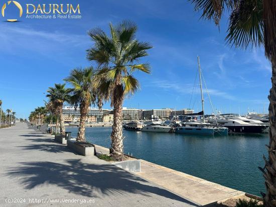
<path fill-rule="evenodd" d="M 0 129 L 0 142 L 0 206 L 196 206 L 25 123 Z"/>

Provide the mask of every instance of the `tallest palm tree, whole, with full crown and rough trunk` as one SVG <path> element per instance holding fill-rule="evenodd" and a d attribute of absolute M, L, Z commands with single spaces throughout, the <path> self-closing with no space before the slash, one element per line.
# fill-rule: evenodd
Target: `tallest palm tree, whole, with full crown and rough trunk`
<path fill-rule="evenodd" d="M 101 29 L 88 32 L 94 46 L 87 50 L 87 59 L 99 68 L 99 89 L 102 98 L 110 100 L 114 107 L 114 118 L 111 133 L 110 155 L 121 160 L 123 157 L 122 104 L 124 97 L 134 94 L 139 88 L 139 81 L 133 72 L 140 70 L 150 73 L 149 64 L 140 64 L 142 57 L 148 56 L 147 50 L 152 46 L 147 42 L 135 39 L 137 26 L 129 21 L 110 27 L 108 37 Z"/>

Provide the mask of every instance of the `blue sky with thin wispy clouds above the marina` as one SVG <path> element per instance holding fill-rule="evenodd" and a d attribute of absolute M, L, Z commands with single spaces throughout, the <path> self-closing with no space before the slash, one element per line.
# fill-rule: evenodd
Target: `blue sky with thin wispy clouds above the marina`
<path fill-rule="evenodd" d="M 61 1 L 18 1 L 25 4 L 58 4 Z M 125 107 L 201 109 L 198 81 L 192 97 L 200 56 L 204 79 L 214 108 L 222 112 L 246 113 L 267 110 L 270 88 L 270 64 L 263 49 L 240 51 L 225 45 L 227 17 L 220 31 L 213 22 L 199 20 L 187 1 L 62 1 L 79 4 L 82 19 L 27 20 L 25 11 L 20 22 L 5 22 L 0 16 L 0 99 L 3 108 L 12 108 L 18 117 L 44 105 L 45 93 L 54 83 L 62 83 L 70 70 L 89 66 L 85 59 L 92 42 L 87 31 L 124 19 L 134 21 L 137 39 L 154 46 L 148 62 L 152 74 L 137 73 L 141 90 L 126 99 Z M 5 3 L 1 1 L 1 7 Z M 9 7 L 7 16 L 17 15 Z M 7 10 L 8 10 L 7 9 Z M 206 112 L 211 113 L 207 94 Z M 190 103 L 191 102 L 191 103 Z M 105 104 L 104 108 L 110 108 Z"/>

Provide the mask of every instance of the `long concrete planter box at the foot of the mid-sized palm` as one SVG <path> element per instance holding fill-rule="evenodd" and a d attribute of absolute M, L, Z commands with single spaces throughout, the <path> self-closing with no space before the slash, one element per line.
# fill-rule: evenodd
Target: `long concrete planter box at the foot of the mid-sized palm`
<path fill-rule="evenodd" d="M 95 155 L 95 147 L 92 144 L 81 143 L 71 139 L 68 140 L 67 147 L 83 156 Z"/>

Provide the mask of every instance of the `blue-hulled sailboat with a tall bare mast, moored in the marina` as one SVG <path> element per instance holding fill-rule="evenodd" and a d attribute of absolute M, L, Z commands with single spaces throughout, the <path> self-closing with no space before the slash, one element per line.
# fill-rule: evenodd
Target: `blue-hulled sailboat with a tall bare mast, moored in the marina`
<path fill-rule="evenodd" d="M 203 98 L 202 81 L 201 81 L 201 73 L 202 72 L 201 72 L 201 68 L 200 68 L 199 56 L 197 57 L 197 61 L 198 61 L 198 70 L 199 70 L 199 82 L 200 82 L 203 122 L 184 121 L 180 124 L 181 126 L 175 128 L 175 132 L 182 133 L 182 134 L 208 134 L 208 135 L 214 135 L 215 133 L 228 134 L 228 128 L 220 127 L 220 126 L 211 126 L 210 123 L 205 122 L 204 98 Z"/>

